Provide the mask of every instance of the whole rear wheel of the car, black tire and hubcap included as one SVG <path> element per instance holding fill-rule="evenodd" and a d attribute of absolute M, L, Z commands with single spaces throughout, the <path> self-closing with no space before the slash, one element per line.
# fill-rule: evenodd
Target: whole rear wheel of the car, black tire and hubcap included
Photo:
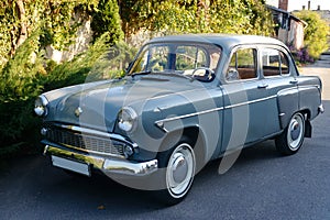
<path fill-rule="evenodd" d="M 286 129 L 275 139 L 277 151 L 283 155 L 293 155 L 299 151 L 305 138 L 305 118 L 295 113 Z"/>

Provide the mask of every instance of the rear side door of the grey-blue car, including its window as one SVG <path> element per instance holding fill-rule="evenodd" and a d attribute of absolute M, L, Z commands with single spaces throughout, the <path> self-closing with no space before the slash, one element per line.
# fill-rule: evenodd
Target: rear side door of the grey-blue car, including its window
<path fill-rule="evenodd" d="M 298 80 L 296 68 L 288 53 L 279 46 L 261 48 L 262 75 L 268 85 L 268 96 L 276 96 L 270 105 L 265 131 L 268 134 L 285 128 L 295 111 L 299 109 Z M 276 107 L 276 108 L 275 108 Z"/>

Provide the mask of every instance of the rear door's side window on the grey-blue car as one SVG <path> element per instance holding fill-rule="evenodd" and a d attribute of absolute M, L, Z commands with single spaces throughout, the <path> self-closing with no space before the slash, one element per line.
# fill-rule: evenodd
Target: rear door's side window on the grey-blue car
<path fill-rule="evenodd" d="M 264 48 L 262 51 L 263 74 L 265 77 L 289 74 L 288 57 L 282 51 Z"/>

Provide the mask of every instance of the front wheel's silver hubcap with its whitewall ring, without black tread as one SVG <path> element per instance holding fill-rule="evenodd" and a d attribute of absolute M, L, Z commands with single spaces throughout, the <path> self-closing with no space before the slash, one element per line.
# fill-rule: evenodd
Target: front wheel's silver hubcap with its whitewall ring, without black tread
<path fill-rule="evenodd" d="M 189 144 L 183 143 L 172 153 L 166 170 L 166 185 L 174 198 L 186 195 L 195 175 L 195 154 Z"/>

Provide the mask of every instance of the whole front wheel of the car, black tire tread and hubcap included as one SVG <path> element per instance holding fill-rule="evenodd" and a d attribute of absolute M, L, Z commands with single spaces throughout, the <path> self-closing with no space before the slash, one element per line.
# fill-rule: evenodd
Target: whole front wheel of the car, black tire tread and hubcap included
<path fill-rule="evenodd" d="M 163 188 L 155 193 L 165 205 L 176 205 L 188 195 L 196 173 L 196 157 L 187 139 L 158 155 Z"/>

